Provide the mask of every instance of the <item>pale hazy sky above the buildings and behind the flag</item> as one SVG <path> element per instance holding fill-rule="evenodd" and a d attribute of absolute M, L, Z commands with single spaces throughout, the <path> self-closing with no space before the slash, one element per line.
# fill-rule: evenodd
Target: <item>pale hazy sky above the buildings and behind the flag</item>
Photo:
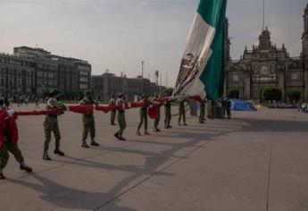
<path fill-rule="evenodd" d="M 92 64 L 93 74 L 109 70 L 141 74 L 174 86 L 198 0 L 0 0 L 0 52 L 38 46 L 55 55 Z M 265 24 L 277 46 L 291 56 L 301 52 L 307 0 L 265 0 Z M 262 0 L 228 0 L 230 54 L 258 43 Z M 168 77 L 167 77 L 168 76 Z M 168 79 L 168 80 L 167 80 Z"/>

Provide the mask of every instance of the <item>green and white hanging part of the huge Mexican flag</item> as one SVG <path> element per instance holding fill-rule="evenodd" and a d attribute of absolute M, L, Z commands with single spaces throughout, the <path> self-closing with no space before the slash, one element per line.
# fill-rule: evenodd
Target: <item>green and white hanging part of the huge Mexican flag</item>
<path fill-rule="evenodd" d="M 224 87 L 226 6 L 227 0 L 200 0 L 173 95 L 219 97 Z"/>

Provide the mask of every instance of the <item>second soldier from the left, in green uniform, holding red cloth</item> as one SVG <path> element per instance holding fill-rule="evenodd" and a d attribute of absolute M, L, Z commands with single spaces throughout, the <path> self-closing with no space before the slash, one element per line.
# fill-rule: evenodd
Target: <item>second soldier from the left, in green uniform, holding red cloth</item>
<path fill-rule="evenodd" d="M 59 91 L 57 89 L 52 89 L 49 92 L 49 99 L 47 100 L 46 109 L 56 109 L 60 108 L 58 101 L 56 99 Z M 48 155 L 48 148 L 51 140 L 51 134 L 54 132 L 54 139 L 55 139 L 55 148 L 54 154 L 59 156 L 64 156 L 64 153 L 60 150 L 60 139 L 61 134 L 59 130 L 58 124 L 58 115 L 63 114 L 46 114 L 45 121 L 44 121 L 44 131 L 45 131 L 45 142 L 44 142 L 44 153 L 43 159 L 44 160 L 51 160 L 50 156 Z"/>

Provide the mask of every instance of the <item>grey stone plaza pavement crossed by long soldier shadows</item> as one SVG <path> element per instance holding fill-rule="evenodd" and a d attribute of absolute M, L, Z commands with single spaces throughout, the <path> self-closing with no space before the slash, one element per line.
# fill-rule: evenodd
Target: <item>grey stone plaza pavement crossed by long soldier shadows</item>
<path fill-rule="evenodd" d="M 101 147 L 87 149 L 80 148 L 81 116 L 68 112 L 59 118 L 66 156 L 54 156 L 53 141 L 50 162 L 42 160 L 43 120 L 18 119 L 34 173 L 21 172 L 11 156 L 1 211 L 308 210 L 308 114 L 238 112 L 204 124 L 188 118 L 188 127 L 172 117 L 173 129 L 137 137 L 135 109 L 127 112 L 128 141 L 119 142 L 109 114 L 96 113 Z"/>

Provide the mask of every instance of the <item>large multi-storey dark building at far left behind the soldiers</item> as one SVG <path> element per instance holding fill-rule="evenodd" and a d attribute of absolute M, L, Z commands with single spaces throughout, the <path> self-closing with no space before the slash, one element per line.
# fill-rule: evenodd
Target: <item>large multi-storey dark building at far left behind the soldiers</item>
<path fill-rule="evenodd" d="M 90 89 L 87 61 L 52 55 L 42 48 L 14 47 L 13 55 L 0 54 L 0 92 L 43 95 L 50 89 L 70 93 Z"/>

